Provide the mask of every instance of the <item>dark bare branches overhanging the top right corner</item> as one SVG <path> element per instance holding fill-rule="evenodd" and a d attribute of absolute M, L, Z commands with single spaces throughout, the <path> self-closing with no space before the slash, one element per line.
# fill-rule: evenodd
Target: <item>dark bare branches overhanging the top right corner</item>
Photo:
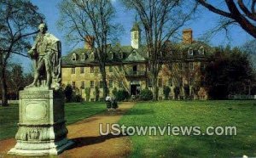
<path fill-rule="evenodd" d="M 243 0 L 237 0 L 236 2 L 234 2 L 234 0 L 225 0 L 224 6 L 214 6 L 213 3 L 209 3 L 207 0 L 195 1 L 201 3 L 202 6 L 208 8 L 213 13 L 228 18 L 229 20 L 224 26 L 236 23 L 240 25 L 244 31 L 247 31 L 247 33 L 256 38 L 256 0 L 247 0 L 246 3 L 244 3 Z"/>

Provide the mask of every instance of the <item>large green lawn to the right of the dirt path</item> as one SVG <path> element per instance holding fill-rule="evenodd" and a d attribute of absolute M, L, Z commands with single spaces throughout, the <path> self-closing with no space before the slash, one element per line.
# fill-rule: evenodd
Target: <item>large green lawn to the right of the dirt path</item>
<path fill-rule="evenodd" d="M 236 126 L 236 136 L 131 136 L 131 157 L 256 156 L 256 102 L 161 101 L 137 103 L 119 121 L 127 126 Z"/>

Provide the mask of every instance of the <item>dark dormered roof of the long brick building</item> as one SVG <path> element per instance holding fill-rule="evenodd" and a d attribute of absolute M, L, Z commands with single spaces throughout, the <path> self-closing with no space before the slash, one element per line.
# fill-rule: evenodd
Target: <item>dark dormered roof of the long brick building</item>
<path fill-rule="evenodd" d="M 203 48 L 204 54 L 199 52 L 200 48 Z M 193 50 L 193 54 L 189 54 L 189 49 Z M 191 44 L 184 43 L 172 43 L 166 42 L 163 55 L 166 55 L 166 60 L 177 59 L 207 59 L 209 54 L 214 52 L 214 48 L 211 48 L 204 42 L 193 42 Z M 62 65 L 96 65 L 96 55 L 93 56 L 93 50 L 86 50 L 84 48 L 77 48 L 62 57 Z M 76 55 L 76 60 L 72 60 L 72 56 Z M 83 60 L 84 55 L 84 60 Z M 93 58 L 94 57 L 94 58 Z M 121 63 L 136 63 L 146 62 L 148 60 L 147 46 L 141 45 L 140 48 L 135 49 L 131 46 L 121 46 L 120 44 L 108 47 L 108 58 L 106 65 L 121 64 Z"/>

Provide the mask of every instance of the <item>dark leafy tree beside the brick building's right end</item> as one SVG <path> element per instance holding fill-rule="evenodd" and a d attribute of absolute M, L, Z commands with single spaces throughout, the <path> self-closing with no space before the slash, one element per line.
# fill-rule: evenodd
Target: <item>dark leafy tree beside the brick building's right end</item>
<path fill-rule="evenodd" d="M 250 94 L 255 80 L 248 54 L 239 48 L 219 48 L 206 68 L 206 83 L 212 99 L 226 99 L 230 94 Z"/>

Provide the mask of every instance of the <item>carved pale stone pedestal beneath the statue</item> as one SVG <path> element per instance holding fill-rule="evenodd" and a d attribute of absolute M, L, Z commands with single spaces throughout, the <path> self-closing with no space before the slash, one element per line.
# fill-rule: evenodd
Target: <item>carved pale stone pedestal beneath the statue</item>
<path fill-rule="evenodd" d="M 58 155 L 73 144 L 67 139 L 61 91 L 27 88 L 20 91 L 15 155 Z"/>

